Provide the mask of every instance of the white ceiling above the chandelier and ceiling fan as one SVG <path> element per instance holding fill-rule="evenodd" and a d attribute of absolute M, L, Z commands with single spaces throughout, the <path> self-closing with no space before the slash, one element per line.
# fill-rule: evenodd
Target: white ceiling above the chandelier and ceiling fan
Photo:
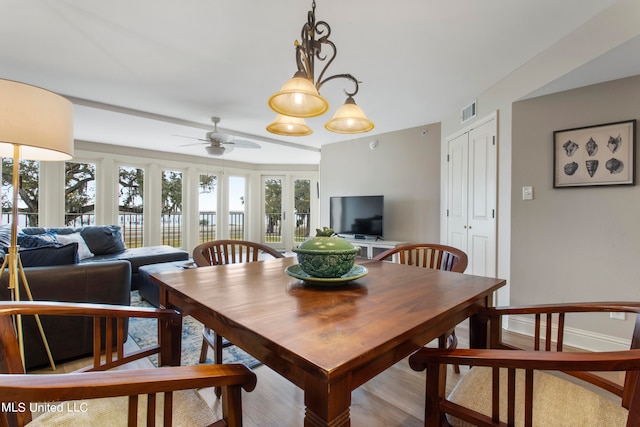
<path fill-rule="evenodd" d="M 355 100 L 376 124 L 366 134 L 373 139 L 451 116 L 614 3 L 318 0 L 316 17 L 329 23 L 337 45 L 328 75 L 351 73 L 362 81 Z M 0 78 L 69 97 L 76 140 L 206 157 L 204 145 L 186 144 L 198 143 L 212 130 L 211 117 L 219 116 L 219 131 L 262 146 L 235 149 L 225 154 L 229 160 L 317 164 L 323 144 L 350 139 L 323 127 L 344 102 L 344 89 L 352 89 L 343 79 L 322 87 L 331 107 L 307 121 L 312 135 L 279 137 L 265 130 L 275 118 L 267 99 L 295 71 L 293 43 L 310 1 L 0 5 Z M 624 64 L 628 69 L 613 67 L 618 75 L 611 75 L 611 58 L 603 58 L 538 94 L 640 74 L 640 55 L 620 52 L 629 48 L 639 52 L 640 43 L 610 53 L 634 58 Z"/>

